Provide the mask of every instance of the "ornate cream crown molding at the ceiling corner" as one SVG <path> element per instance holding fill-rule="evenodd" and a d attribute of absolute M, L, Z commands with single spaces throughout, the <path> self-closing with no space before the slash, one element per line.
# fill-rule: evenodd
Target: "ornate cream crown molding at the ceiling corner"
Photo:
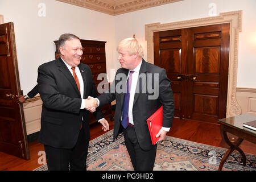
<path fill-rule="evenodd" d="M 101 13 L 119 15 L 183 0 L 56 0 Z"/>

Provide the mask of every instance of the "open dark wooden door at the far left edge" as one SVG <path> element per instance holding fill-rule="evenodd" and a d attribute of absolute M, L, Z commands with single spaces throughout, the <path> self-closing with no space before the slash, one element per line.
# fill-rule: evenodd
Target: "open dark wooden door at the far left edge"
<path fill-rule="evenodd" d="M 20 93 L 14 24 L 0 24 L 0 151 L 30 159 Z"/>

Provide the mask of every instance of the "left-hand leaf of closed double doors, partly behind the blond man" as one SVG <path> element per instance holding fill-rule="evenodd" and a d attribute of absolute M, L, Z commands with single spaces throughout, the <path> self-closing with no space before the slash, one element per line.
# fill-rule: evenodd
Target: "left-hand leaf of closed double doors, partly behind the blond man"
<path fill-rule="evenodd" d="M 184 106 L 182 103 L 186 97 L 186 92 L 183 90 L 185 83 L 181 82 L 183 78 L 179 77 L 185 72 L 181 34 L 183 34 L 181 30 L 154 32 L 155 64 L 165 68 L 167 77 L 171 80 L 176 117 L 182 117 L 181 110 Z"/>

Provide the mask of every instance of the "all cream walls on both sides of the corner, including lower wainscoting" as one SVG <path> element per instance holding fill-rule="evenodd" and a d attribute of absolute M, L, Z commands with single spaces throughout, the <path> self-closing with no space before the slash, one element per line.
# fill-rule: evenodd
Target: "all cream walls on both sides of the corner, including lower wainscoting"
<path fill-rule="evenodd" d="M 38 16 L 39 3 L 46 5 L 45 17 Z M 117 16 L 53 0 L 0 0 L 0 14 L 5 22 L 14 22 L 20 86 L 26 94 L 36 84 L 38 66 L 54 59 L 53 40 L 64 32 L 76 34 L 81 39 L 106 41 L 106 64 L 110 77 L 120 67 L 115 50 L 120 40 L 135 34 L 142 42 L 144 59 L 147 60 L 145 24 L 205 18 L 209 16 L 210 3 L 215 3 L 217 15 L 243 11 L 238 42 L 237 101 L 242 114 L 256 115 L 255 0 L 184 0 Z M 112 80 L 113 77 L 109 81 Z M 38 98 L 23 104 L 27 134 L 40 130 L 41 105 Z"/>

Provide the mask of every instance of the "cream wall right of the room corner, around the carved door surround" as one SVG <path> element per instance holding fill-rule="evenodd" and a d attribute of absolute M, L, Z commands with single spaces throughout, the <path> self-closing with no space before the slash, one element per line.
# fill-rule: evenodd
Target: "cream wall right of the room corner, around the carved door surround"
<path fill-rule="evenodd" d="M 173 23 L 209 17 L 209 4 L 216 4 L 216 13 L 242 10 L 242 32 L 239 35 L 237 87 L 256 88 L 256 1 L 255 0 L 185 0 L 150 9 L 134 11 L 115 17 L 115 43 L 127 36 L 136 35 L 144 47 L 144 25 L 150 23 Z"/>

